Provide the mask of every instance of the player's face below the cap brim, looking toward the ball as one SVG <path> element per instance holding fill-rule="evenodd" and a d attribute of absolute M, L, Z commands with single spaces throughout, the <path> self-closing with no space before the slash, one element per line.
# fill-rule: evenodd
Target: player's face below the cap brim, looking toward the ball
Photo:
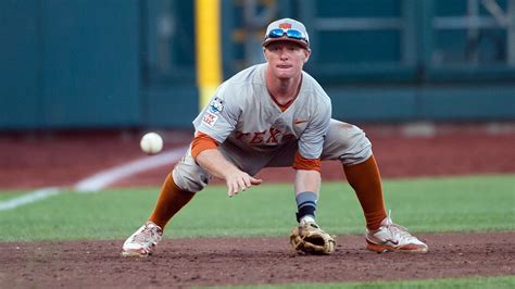
<path fill-rule="evenodd" d="M 310 58 L 310 50 L 291 41 L 276 41 L 269 43 L 265 50 L 268 70 L 280 79 L 298 76 L 304 63 Z"/>

